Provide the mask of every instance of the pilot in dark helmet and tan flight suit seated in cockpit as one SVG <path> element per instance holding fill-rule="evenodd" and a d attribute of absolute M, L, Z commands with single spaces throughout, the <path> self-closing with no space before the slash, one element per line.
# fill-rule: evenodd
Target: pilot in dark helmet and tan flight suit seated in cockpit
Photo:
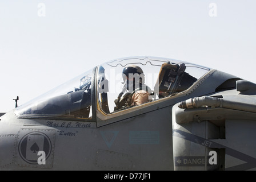
<path fill-rule="evenodd" d="M 145 75 L 136 65 L 123 68 L 122 72 L 123 89 L 122 93 L 131 93 L 130 106 L 137 106 L 149 102 L 151 98 L 151 89 L 145 85 Z"/>

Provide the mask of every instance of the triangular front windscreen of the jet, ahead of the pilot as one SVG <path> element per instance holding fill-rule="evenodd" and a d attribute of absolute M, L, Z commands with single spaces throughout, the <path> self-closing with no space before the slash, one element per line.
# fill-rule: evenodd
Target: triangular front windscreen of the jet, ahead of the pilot
<path fill-rule="evenodd" d="M 21 117 L 91 118 L 91 81 L 93 70 L 58 86 L 17 107 Z"/>

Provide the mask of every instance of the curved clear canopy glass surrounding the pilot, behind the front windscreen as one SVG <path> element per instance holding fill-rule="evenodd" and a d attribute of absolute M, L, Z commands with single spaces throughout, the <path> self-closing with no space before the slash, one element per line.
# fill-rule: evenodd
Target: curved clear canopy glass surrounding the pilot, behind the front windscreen
<path fill-rule="evenodd" d="M 158 100 L 188 89 L 210 68 L 161 57 L 127 57 L 102 64 L 98 68 L 98 102 L 106 114 L 128 108 L 127 103 L 117 106 L 118 97 L 125 97 L 127 67 L 141 68 L 143 84 L 150 94 L 150 101 Z M 125 105 L 126 104 L 126 105 Z M 117 108 L 118 107 L 118 108 Z"/>

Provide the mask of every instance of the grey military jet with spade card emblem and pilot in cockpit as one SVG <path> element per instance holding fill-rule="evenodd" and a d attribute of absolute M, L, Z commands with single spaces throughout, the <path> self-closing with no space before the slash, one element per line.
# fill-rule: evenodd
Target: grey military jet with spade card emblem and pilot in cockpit
<path fill-rule="evenodd" d="M 256 169 L 255 94 L 186 61 L 111 60 L 2 115 L 0 168 Z"/>

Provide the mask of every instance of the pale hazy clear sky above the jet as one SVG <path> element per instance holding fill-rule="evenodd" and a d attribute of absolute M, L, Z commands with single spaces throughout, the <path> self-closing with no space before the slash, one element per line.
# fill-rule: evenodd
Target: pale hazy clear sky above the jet
<path fill-rule="evenodd" d="M 255 7 L 255 0 L 0 1 L 0 112 L 14 109 L 17 96 L 24 104 L 127 56 L 184 60 L 256 82 Z"/>

